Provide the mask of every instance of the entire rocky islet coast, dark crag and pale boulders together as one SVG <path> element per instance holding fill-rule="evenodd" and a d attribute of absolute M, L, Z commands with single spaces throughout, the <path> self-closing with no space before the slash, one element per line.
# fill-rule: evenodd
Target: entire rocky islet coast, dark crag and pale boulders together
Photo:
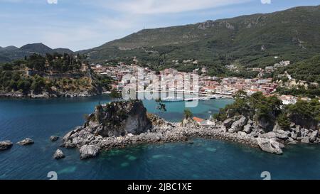
<path fill-rule="evenodd" d="M 292 124 L 289 131 L 276 125 L 272 131 L 266 132 L 246 117 L 234 117 L 214 126 L 200 126 L 192 119 L 171 123 L 146 113 L 142 102 L 132 101 L 96 107 L 83 126 L 63 137 L 61 146 L 78 148 L 80 158 L 85 159 L 114 148 L 188 141 L 193 137 L 237 142 L 275 154 L 282 154 L 287 144 L 320 143 L 318 129 L 308 130 Z"/>

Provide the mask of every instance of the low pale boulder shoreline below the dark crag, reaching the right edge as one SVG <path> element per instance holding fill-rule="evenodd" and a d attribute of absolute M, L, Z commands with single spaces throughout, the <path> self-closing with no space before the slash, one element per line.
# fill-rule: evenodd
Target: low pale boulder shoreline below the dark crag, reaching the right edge
<path fill-rule="evenodd" d="M 87 146 L 93 146 L 97 153 L 99 153 L 101 151 L 125 149 L 128 146 L 139 146 L 142 144 L 148 145 L 188 142 L 195 138 L 213 139 L 218 141 L 226 141 L 229 143 L 236 143 L 277 155 L 282 155 L 282 149 L 284 149 L 285 146 L 296 144 L 317 145 L 320 143 L 310 142 L 306 144 L 298 141 L 292 142 L 283 138 L 283 134 L 274 133 L 274 136 L 270 136 L 270 133 L 274 132 L 252 135 L 245 134 L 242 131 L 239 131 L 238 133 L 231 133 L 226 131 L 222 125 L 199 126 L 193 124 L 192 126 L 181 126 L 181 123 L 165 122 L 165 124 L 162 124 L 161 126 L 154 126 L 152 129 L 142 134 L 102 137 L 95 135 L 95 129 L 78 126 L 63 137 L 63 144 L 60 146 L 67 149 L 80 149 L 80 158 L 85 159 L 97 156 L 90 156 L 90 154 L 88 156 L 82 156 L 82 149 Z M 193 143 L 191 142 L 191 144 Z"/>

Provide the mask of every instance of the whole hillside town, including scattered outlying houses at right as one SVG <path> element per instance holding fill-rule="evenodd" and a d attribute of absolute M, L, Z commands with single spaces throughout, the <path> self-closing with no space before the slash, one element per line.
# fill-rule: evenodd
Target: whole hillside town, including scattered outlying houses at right
<path fill-rule="evenodd" d="M 265 69 L 262 68 L 252 68 L 252 71 L 258 71 L 260 74 L 265 72 L 273 72 L 277 68 L 286 67 L 290 65 L 289 61 L 281 61 L 274 64 L 274 66 L 268 66 Z M 196 92 L 199 95 L 204 95 L 211 98 L 232 98 L 236 92 L 243 90 L 247 92 L 248 95 L 252 95 L 255 92 L 262 92 L 266 96 L 274 95 L 279 86 L 279 82 L 274 82 L 272 78 L 257 78 L 245 79 L 241 77 L 213 77 L 207 75 L 208 69 L 206 67 L 193 70 L 192 72 L 180 72 L 174 68 L 168 68 L 156 72 L 150 68 L 142 68 L 137 64 L 126 65 L 124 63 L 119 63 L 116 66 L 105 66 L 100 64 L 92 63 L 90 65 L 91 70 L 100 75 L 107 75 L 111 77 L 114 82 L 112 88 L 122 91 L 124 87 L 136 87 L 136 82 L 130 82 L 124 79 L 126 75 L 132 75 L 135 80 L 139 80 L 139 71 L 143 72 L 144 79 L 139 80 L 139 85 L 143 85 L 143 88 L 137 88 L 137 90 L 154 90 L 151 88 L 151 82 L 156 76 L 157 80 L 166 83 L 165 88 L 161 88 L 161 91 L 167 92 Z M 230 68 L 230 66 L 229 66 Z M 233 68 L 235 68 L 233 66 Z M 200 73 L 198 73 L 200 72 Z M 183 82 L 174 80 L 174 77 L 181 77 L 184 81 L 191 79 L 191 77 L 198 76 L 198 88 L 183 88 Z M 287 77 L 292 80 L 292 77 L 285 72 L 284 75 L 279 75 L 280 78 Z M 164 90 L 163 90 L 164 89 Z M 292 95 L 279 95 L 279 99 L 282 100 L 283 104 L 294 104 L 297 102 L 298 97 Z M 302 99 L 309 100 L 307 97 Z"/>

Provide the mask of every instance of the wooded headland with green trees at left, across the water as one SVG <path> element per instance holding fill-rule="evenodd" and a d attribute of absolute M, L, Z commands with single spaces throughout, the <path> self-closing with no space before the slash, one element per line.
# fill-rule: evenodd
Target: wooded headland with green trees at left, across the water
<path fill-rule="evenodd" d="M 82 72 L 87 64 L 82 55 L 58 53 L 43 57 L 33 54 L 24 60 L 15 60 L 0 65 L 0 91 L 59 93 L 59 92 L 101 92 L 109 90 L 110 77 Z"/>

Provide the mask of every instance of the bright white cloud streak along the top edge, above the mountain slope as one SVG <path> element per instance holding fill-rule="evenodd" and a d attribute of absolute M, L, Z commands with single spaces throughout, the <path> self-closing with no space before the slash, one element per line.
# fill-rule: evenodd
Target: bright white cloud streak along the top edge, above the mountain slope
<path fill-rule="evenodd" d="M 242 4 L 252 0 L 123 0 L 104 1 L 108 9 L 130 14 L 174 14 Z M 102 2 L 102 1 L 100 1 Z"/>

